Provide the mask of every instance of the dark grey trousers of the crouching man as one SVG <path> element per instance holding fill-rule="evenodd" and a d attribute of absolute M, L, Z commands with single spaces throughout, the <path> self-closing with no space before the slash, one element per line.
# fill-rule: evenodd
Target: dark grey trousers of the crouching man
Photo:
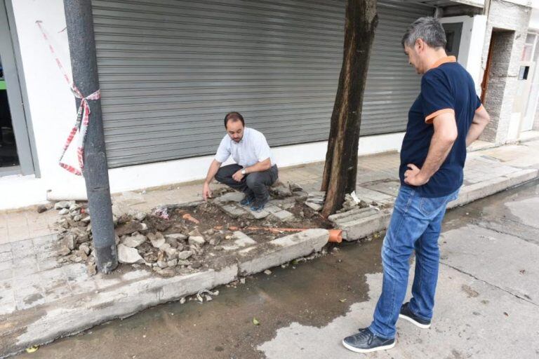
<path fill-rule="evenodd" d="M 264 172 L 248 173 L 241 179 L 241 182 L 237 182 L 232 178 L 232 175 L 242 168 L 241 165 L 237 164 L 224 165 L 217 171 L 215 179 L 228 187 L 244 192 L 246 196 L 254 196 L 257 202 L 266 201 L 270 196 L 267 187 L 271 186 L 279 177 L 277 165 L 273 165 L 272 168 Z"/>

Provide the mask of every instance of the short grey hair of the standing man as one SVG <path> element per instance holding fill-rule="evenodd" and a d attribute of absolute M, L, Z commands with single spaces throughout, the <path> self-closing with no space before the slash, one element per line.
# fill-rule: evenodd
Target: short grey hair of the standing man
<path fill-rule="evenodd" d="M 404 45 L 413 48 L 415 41 L 422 39 L 432 48 L 446 47 L 446 32 L 441 23 L 435 18 L 418 18 L 406 29 L 402 36 L 402 47 Z"/>

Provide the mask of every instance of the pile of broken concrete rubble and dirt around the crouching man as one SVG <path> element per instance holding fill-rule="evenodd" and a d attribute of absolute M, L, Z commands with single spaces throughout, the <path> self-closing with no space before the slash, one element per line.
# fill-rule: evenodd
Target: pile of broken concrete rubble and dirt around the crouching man
<path fill-rule="evenodd" d="M 271 189 L 272 196 L 277 199 L 267 205 L 270 216 L 258 219 L 250 217 L 248 212 L 239 217 L 230 215 L 226 210 L 230 206 L 227 203 L 239 201 L 243 194 L 221 192 L 222 196 L 211 203 L 168 205 L 149 213 L 134 210 L 126 203 L 114 203 L 112 213 L 119 262 L 151 269 L 161 276 L 189 273 L 208 266 L 207 259 L 219 257 L 220 251 L 234 248 L 229 243 L 238 241 L 238 229 L 253 238 L 258 235 L 260 241 L 260 238 L 272 240 L 279 236 L 260 231 L 261 227 L 274 228 L 285 223 L 285 227 L 313 226 L 313 221 L 319 221 L 320 217 L 303 203 L 306 201 L 305 204 L 312 208 L 308 203 L 323 203 L 324 200 L 319 194 L 307 194 L 298 184 L 279 183 Z M 130 200 L 134 197 L 131 195 Z M 91 213 L 87 203 L 60 201 L 55 203 L 54 209 L 60 216 L 58 262 L 85 263 L 88 273 L 94 275 Z M 286 234 L 282 233 L 283 236 Z"/>

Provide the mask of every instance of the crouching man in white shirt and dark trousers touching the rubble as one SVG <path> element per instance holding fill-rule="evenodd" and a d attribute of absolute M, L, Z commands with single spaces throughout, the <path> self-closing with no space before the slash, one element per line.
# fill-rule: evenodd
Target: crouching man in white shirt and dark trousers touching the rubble
<path fill-rule="evenodd" d="M 270 146 L 262 133 L 245 127 L 244 117 L 239 112 L 225 116 L 225 128 L 227 135 L 219 144 L 204 182 L 204 201 L 211 198 L 210 182 L 215 177 L 218 182 L 244 192 L 241 205 L 251 205 L 251 210 L 260 212 L 270 198 L 267 186 L 279 177 Z M 236 163 L 221 167 L 230 156 Z"/>

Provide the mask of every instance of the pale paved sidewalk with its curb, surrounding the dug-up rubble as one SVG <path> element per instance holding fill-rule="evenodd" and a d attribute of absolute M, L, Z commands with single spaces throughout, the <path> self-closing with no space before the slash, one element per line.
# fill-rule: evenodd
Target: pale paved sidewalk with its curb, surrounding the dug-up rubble
<path fill-rule="evenodd" d="M 359 198 L 393 203 L 399 187 L 398 165 L 397 153 L 359 158 Z M 285 168 L 279 177 L 282 182 L 300 184 L 306 191 L 317 191 L 323 166 L 314 163 Z M 460 197 L 451 205 L 462 205 L 535 179 L 538 169 L 539 140 L 470 152 L 465 184 Z M 149 190 L 136 196 L 132 207 L 149 211 L 157 205 L 197 201 L 200 190 L 200 183 Z M 172 278 L 124 268 L 109 276 L 91 277 L 84 264 L 60 266 L 55 261 L 56 219 L 54 210 L 41 214 L 35 209 L 0 214 L 0 357 L 229 283 L 246 273 L 245 269 L 247 273 L 256 273 L 309 255 L 321 250 L 325 243 L 324 233 L 311 230 L 311 236 L 288 236 L 287 240 L 275 240 L 273 247 L 260 247 L 259 257 L 249 263 L 225 263 L 219 268 Z M 383 229 L 384 220 L 377 223 L 381 228 L 368 227 L 370 232 L 361 236 Z"/>

